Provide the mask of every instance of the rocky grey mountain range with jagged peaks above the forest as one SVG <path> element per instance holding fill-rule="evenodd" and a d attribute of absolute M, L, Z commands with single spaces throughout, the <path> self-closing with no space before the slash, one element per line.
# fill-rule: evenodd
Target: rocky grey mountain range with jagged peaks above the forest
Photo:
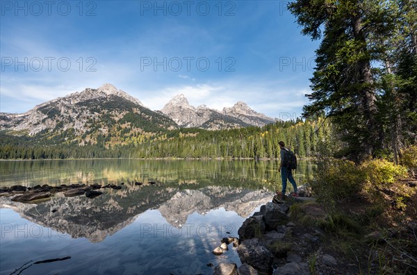
<path fill-rule="evenodd" d="M 183 94 L 171 99 L 162 110 L 150 110 L 135 97 L 111 84 L 86 88 L 47 101 L 22 114 L 0 113 L 0 130 L 10 135 L 38 136 L 79 145 L 126 144 L 131 138 L 178 128 L 221 130 L 264 126 L 277 119 L 252 110 L 238 101 L 222 111 L 205 105 L 190 106 Z"/>

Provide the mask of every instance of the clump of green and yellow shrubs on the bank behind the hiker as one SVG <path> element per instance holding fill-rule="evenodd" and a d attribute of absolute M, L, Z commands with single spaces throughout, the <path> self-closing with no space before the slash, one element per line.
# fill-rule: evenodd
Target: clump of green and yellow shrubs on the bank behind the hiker
<path fill-rule="evenodd" d="M 369 159 L 360 165 L 349 160 L 323 160 L 310 185 L 318 202 L 328 207 L 334 206 L 336 201 L 350 201 L 359 194 L 365 194 L 374 202 L 386 200 L 384 196 L 388 194 L 395 199 L 398 208 L 404 209 L 410 192 L 398 179 L 406 176 L 406 167 L 385 159 Z"/>

